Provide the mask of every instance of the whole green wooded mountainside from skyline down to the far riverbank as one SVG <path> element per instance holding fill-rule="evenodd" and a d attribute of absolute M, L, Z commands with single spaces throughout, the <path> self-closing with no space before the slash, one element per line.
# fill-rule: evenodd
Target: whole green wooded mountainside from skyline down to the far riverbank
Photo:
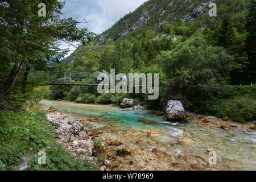
<path fill-rule="evenodd" d="M 209 16 L 212 2 L 217 16 Z M 157 109 L 166 100 L 180 100 L 191 111 L 249 121 L 256 117 L 255 86 L 236 85 L 255 84 L 255 6 L 255 0 L 150 0 L 77 48 L 58 68 L 94 76 L 102 69 L 159 73 L 159 84 L 168 89 L 160 89 L 158 100 L 129 97 Z M 50 95 L 102 104 L 125 97 L 99 95 L 95 89 L 65 92 Z"/>

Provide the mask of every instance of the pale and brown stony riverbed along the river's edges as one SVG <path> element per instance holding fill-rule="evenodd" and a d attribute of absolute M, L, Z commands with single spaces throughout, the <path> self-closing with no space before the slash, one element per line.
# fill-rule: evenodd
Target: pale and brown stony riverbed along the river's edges
<path fill-rule="evenodd" d="M 121 129 L 116 125 L 118 121 L 102 122 L 102 115 L 98 118 L 76 118 L 67 113 L 49 112 L 47 116 L 50 121 L 60 125 L 60 128 L 55 130 L 57 142 L 73 156 L 93 160 L 101 170 L 234 169 L 226 165 L 225 160 L 233 160 L 230 158 L 218 158 L 217 165 L 210 165 L 209 152 L 213 148 L 207 143 L 200 146 L 200 154 L 180 150 L 180 147 L 195 147 L 199 142 L 199 139 L 188 131 L 167 140 L 166 134 L 158 130 Z M 240 124 L 192 114 L 187 114 L 187 117 L 195 119 L 199 127 L 210 130 L 240 130 L 246 133 L 255 129 L 255 123 Z M 94 140 L 99 140 L 102 147 L 95 147 Z"/>

